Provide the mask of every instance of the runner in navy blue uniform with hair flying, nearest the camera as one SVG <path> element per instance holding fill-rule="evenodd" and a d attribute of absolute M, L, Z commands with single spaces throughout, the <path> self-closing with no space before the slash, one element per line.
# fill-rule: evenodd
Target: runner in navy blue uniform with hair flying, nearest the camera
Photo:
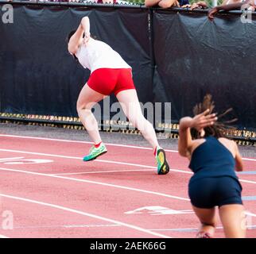
<path fill-rule="evenodd" d="M 213 109 L 214 102 L 208 94 L 203 103 L 195 106 L 195 117 L 180 119 L 179 152 L 190 160 L 189 167 L 194 172 L 188 194 L 201 222 L 197 237 L 213 237 L 215 206 L 219 206 L 225 236 L 242 238 L 246 236 L 246 219 L 242 187 L 235 174 L 235 169 L 242 171 L 242 158 L 237 144 L 224 137 L 224 125 L 212 114 Z"/>

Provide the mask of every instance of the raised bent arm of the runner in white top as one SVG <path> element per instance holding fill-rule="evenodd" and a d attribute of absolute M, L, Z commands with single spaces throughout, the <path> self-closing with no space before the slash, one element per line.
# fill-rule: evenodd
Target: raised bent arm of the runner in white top
<path fill-rule="evenodd" d="M 83 38 L 84 33 L 84 38 Z M 89 17 L 83 17 L 78 29 L 76 29 L 76 33 L 72 35 L 68 42 L 68 52 L 71 54 L 76 54 L 80 44 L 84 40 L 87 42 L 90 38 L 90 20 Z"/>

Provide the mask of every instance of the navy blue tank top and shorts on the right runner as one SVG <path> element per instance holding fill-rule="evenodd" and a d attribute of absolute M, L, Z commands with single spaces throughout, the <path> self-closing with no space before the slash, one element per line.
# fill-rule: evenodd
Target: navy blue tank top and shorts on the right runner
<path fill-rule="evenodd" d="M 192 205 L 212 208 L 242 204 L 242 187 L 235 174 L 235 158 L 215 137 L 206 137 L 193 152 L 189 164 L 194 175 L 188 194 Z"/>

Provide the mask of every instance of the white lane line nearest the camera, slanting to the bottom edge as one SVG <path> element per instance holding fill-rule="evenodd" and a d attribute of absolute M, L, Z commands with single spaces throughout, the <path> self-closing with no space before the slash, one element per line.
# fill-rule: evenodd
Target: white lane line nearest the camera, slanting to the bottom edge
<path fill-rule="evenodd" d="M 58 205 L 51 204 L 51 203 L 48 203 L 48 202 L 40 202 L 40 201 L 29 199 L 29 198 L 21 198 L 21 197 L 11 196 L 11 195 L 7 195 L 7 194 L 0 194 L 0 196 L 4 197 L 4 198 L 11 198 L 11 199 L 15 199 L 15 200 L 24 201 L 24 202 L 31 202 L 31 203 L 41 205 L 41 206 L 49 206 L 49 207 L 56 208 L 56 209 L 59 209 L 59 210 L 68 211 L 68 212 L 73 213 L 73 214 L 80 214 L 80 215 L 87 216 L 87 217 L 93 217 L 93 218 L 99 219 L 101 221 L 111 222 L 111 223 L 114 223 L 114 224 L 122 225 L 126 228 L 134 229 L 134 230 L 137 230 L 137 231 L 140 231 L 140 232 L 143 232 L 143 233 L 148 233 L 148 234 L 153 235 L 155 237 L 170 238 L 170 237 L 165 236 L 161 233 L 155 233 L 155 232 L 151 232 L 147 229 L 142 229 L 141 227 L 138 227 L 136 225 L 127 224 L 127 223 L 124 223 L 122 221 L 112 220 L 110 218 L 98 216 L 98 215 L 95 215 L 95 214 L 88 214 L 88 213 L 85 213 L 83 211 L 71 209 L 71 208 L 68 208 L 68 207 L 65 207 L 65 206 L 58 206 Z"/>

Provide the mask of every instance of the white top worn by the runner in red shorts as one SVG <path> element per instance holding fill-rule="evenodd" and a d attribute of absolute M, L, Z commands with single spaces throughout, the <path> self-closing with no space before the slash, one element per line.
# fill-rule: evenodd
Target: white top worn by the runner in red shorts
<path fill-rule="evenodd" d="M 95 71 L 99 68 L 126 68 L 130 65 L 115 52 L 108 44 L 100 40 L 90 38 L 87 44 L 82 44 L 76 52 L 76 57 L 84 68 Z"/>

